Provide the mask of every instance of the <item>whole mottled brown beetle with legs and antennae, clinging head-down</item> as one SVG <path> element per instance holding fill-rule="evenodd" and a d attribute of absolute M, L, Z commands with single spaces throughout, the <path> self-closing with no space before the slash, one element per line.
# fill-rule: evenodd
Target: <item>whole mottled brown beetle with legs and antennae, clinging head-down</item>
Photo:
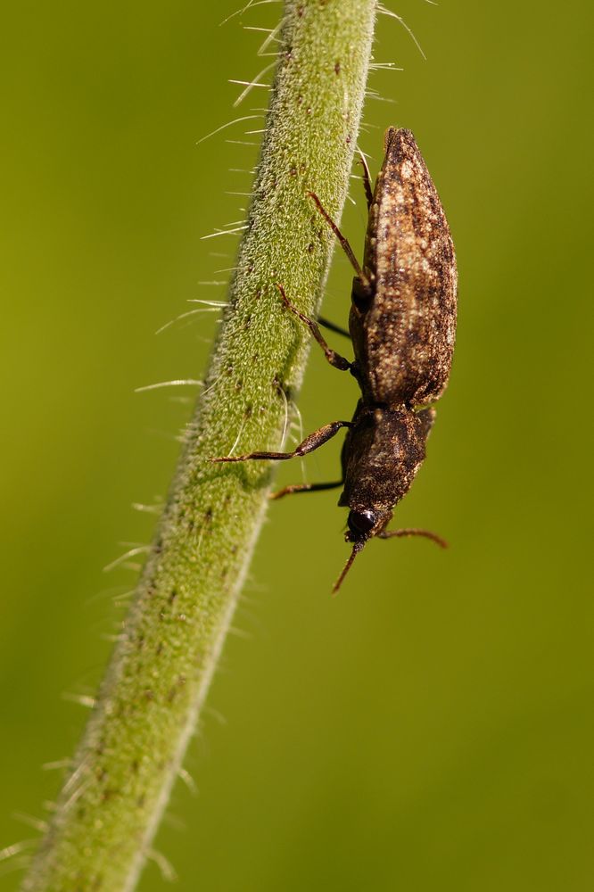
<path fill-rule="evenodd" d="M 361 397 L 352 420 L 320 427 L 293 452 L 212 459 L 303 456 L 347 428 L 340 480 L 298 483 L 273 496 L 343 486 L 338 504 L 350 508 L 345 539 L 352 542 L 352 551 L 334 591 L 374 536 L 420 535 L 445 546 L 426 530 L 386 530 L 386 526 L 425 458 L 435 415 L 431 403 L 439 399 L 450 375 L 456 334 L 454 246 L 433 180 L 410 130 L 386 132 L 384 163 L 373 192 L 365 162 L 363 167 L 369 219 L 362 267 L 318 196 L 309 193 L 355 268 L 349 318 L 354 361 L 328 347 L 317 323 L 296 310 L 283 286 L 277 285 L 285 307 L 309 327 L 328 362 L 351 371 L 359 382 Z"/>

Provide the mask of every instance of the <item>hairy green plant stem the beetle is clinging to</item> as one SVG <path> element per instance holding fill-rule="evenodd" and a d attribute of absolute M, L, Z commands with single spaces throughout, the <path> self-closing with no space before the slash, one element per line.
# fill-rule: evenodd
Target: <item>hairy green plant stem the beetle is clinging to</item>
<path fill-rule="evenodd" d="M 227 313 L 134 604 L 26 892 L 135 888 L 217 665 L 267 505 L 309 334 L 276 283 L 315 312 L 359 120 L 375 0 L 285 4 L 276 78 Z"/>

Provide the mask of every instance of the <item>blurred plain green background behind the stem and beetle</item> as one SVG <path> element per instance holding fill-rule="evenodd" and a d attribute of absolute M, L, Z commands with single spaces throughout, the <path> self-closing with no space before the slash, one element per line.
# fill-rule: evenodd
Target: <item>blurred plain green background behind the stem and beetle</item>
<path fill-rule="evenodd" d="M 148 541 L 191 411 L 142 384 L 200 377 L 257 149 L 235 117 L 277 4 L 12 4 L 0 38 L 4 607 L 0 847 L 34 838 Z M 215 8 L 216 7 L 216 8 Z M 394 0 L 362 148 L 412 128 L 458 248 L 450 388 L 396 522 L 340 597 L 334 493 L 272 506 L 156 848 L 177 889 L 584 890 L 594 884 L 589 439 L 590 5 Z M 264 90 L 239 113 L 265 104 Z M 247 122 L 247 129 L 253 122 Z M 256 128 L 260 125 L 256 122 Z M 230 170 L 232 169 L 232 170 Z M 364 207 L 344 229 L 360 251 Z M 224 256 L 223 256 L 224 255 Z M 325 314 L 346 318 L 336 252 Z M 336 344 L 346 350 L 344 343 Z M 187 393 L 185 391 L 184 393 Z M 174 393 L 182 395 L 181 390 Z M 313 351 L 306 431 L 356 388 Z M 339 446 L 308 459 L 332 479 Z M 301 479 L 283 467 L 279 481 Z M 114 600 L 115 599 L 115 600 Z M 12 862 L 4 865 L 9 869 Z M 7 872 L 0 890 L 17 887 Z M 163 888 L 149 864 L 143 892 Z"/>

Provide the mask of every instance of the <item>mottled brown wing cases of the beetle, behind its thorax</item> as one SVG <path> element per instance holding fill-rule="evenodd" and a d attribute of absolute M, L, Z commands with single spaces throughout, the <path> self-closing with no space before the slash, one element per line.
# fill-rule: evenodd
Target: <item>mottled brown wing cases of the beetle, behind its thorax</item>
<path fill-rule="evenodd" d="M 437 400 L 456 336 L 450 227 L 410 130 L 390 128 L 369 209 L 349 326 L 364 398 L 414 408 Z"/>

